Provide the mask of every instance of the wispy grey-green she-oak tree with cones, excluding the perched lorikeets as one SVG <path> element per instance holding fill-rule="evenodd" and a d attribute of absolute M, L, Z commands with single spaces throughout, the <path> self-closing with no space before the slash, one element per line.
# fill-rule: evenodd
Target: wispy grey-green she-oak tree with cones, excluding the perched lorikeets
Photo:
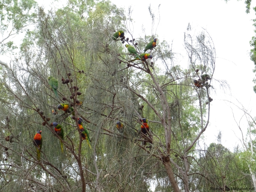
<path fill-rule="evenodd" d="M 73 0 L 48 13 L 38 8 L 36 27 L 12 62 L 11 87 L 1 80 L 1 191 L 150 191 L 156 182 L 160 191 L 203 192 L 229 181 L 228 172 L 224 183 L 216 182 L 223 172 L 209 176 L 215 164 L 196 147 L 212 104 L 211 38 L 185 34 L 185 70 L 174 64 L 161 37 L 147 50 L 152 60 L 129 62 L 135 56 L 111 40 L 118 30 L 129 36 L 128 22 L 124 10 L 108 1 Z M 151 40 L 124 39 L 138 54 Z M 211 79 L 196 88 L 193 80 L 203 74 Z M 58 98 L 49 76 L 58 80 Z M 60 103 L 70 104 L 74 117 L 58 110 Z M 78 117 L 92 149 L 82 142 Z M 140 133 L 142 118 L 148 119 L 148 134 Z M 62 125 L 63 139 L 52 122 Z M 32 142 L 38 130 L 44 140 L 40 161 Z"/>

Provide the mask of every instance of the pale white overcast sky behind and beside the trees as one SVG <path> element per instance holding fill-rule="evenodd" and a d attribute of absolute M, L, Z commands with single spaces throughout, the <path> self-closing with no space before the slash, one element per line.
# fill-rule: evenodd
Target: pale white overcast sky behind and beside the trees
<path fill-rule="evenodd" d="M 254 73 L 252 69 L 254 64 L 250 61 L 249 52 L 254 27 L 252 19 L 256 18 L 254 11 L 250 14 L 245 13 L 244 1 L 230 0 L 226 4 L 224 0 L 111 0 L 118 7 L 128 10 L 132 7 L 132 18 L 134 19 L 134 36 L 142 31 L 142 25 L 146 29 L 147 35 L 151 35 L 152 24 L 148 12 L 148 6 L 151 4 L 152 9 L 158 18 L 158 5 L 160 6 L 160 23 L 154 33 L 158 34 L 159 40 L 172 42 L 174 52 L 184 53 L 183 38 L 188 23 L 192 28 L 200 32 L 205 28 L 213 39 L 216 49 L 216 70 L 214 78 L 226 80 L 231 90 L 220 90 L 219 85 L 214 85 L 216 94 L 212 94 L 214 99 L 211 102 L 210 126 L 204 132 L 204 138 L 207 145 L 217 142 L 216 136 L 218 131 L 222 132 L 222 144 L 233 150 L 234 146 L 240 144 L 238 138 L 241 138 L 240 130 L 236 125 L 232 110 L 236 120 L 239 122 L 243 113 L 237 110 L 235 106 L 225 102 L 230 100 L 238 104 L 236 99 L 241 102 L 246 109 L 251 111 L 251 115 L 256 116 L 254 110 L 256 106 L 255 97 L 252 87 Z M 45 8 L 52 1 L 38 1 Z M 252 6 L 256 6 L 253 4 Z M 61 4 L 61 1 L 58 2 Z M 184 54 L 185 56 L 185 54 Z M 185 63 L 187 64 L 187 63 Z M 244 136 L 247 132 L 247 121 L 241 121 L 241 129 Z M 238 137 L 238 138 L 237 138 Z"/>

